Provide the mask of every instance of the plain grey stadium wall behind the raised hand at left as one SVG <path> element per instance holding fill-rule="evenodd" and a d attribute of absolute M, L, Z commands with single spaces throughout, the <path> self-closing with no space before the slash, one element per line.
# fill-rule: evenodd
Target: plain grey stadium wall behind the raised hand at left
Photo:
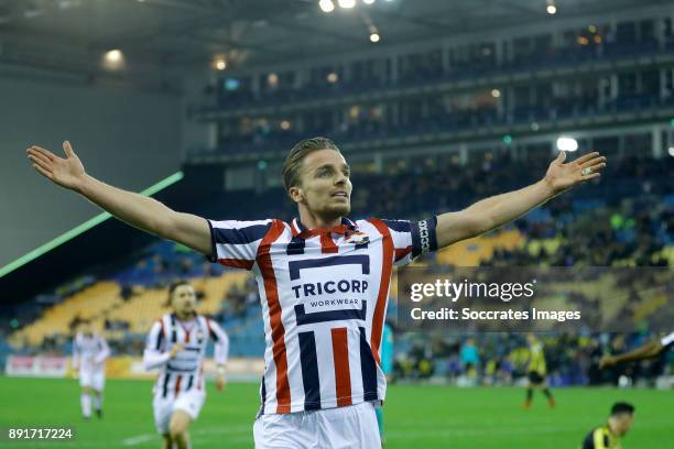
<path fill-rule="evenodd" d="M 69 140 L 89 173 L 132 190 L 180 168 L 177 96 L 0 78 L 0 266 L 99 212 L 33 173 L 30 144 L 63 152 Z"/>

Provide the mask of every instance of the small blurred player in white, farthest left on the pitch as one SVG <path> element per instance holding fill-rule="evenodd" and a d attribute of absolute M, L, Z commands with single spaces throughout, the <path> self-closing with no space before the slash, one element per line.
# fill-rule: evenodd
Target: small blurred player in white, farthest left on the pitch
<path fill-rule="evenodd" d="M 110 348 L 106 339 L 94 332 L 90 321 L 81 321 L 73 342 L 73 370 L 79 370 L 80 405 L 85 419 L 91 417 L 91 399 L 94 399 L 96 416 L 102 417 L 106 359 L 109 355 Z"/>

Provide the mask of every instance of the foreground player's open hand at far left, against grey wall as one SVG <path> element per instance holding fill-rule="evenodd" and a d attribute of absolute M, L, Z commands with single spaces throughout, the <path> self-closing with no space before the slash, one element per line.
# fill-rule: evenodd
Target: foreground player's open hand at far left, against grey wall
<path fill-rule="evenodd" d="M 66 158 L 37 145 L 28 149 L 26 153 L 37 173 L 62 187 L 76 190 L 86 175 L 84 165 L 73 151 L 70 142 L 63 142 L 63 150 Z"/>

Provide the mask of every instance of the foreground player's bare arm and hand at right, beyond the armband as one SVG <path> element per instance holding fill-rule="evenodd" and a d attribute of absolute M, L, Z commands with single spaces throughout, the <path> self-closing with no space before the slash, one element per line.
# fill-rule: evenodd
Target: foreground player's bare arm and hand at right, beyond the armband
<path fill-rule="evenodd" d="M 545 177 L 535 184 L 482 199 L 458 212 L 438 216 L 437 247 L 444 248 L 499 228 L 561 193 L 599 177 L 598 172 L 606 167 L 606 157 L 596 152 L 567 164 L 564 164 L 565 157 L 561 152 L 550 164 Z"/>

